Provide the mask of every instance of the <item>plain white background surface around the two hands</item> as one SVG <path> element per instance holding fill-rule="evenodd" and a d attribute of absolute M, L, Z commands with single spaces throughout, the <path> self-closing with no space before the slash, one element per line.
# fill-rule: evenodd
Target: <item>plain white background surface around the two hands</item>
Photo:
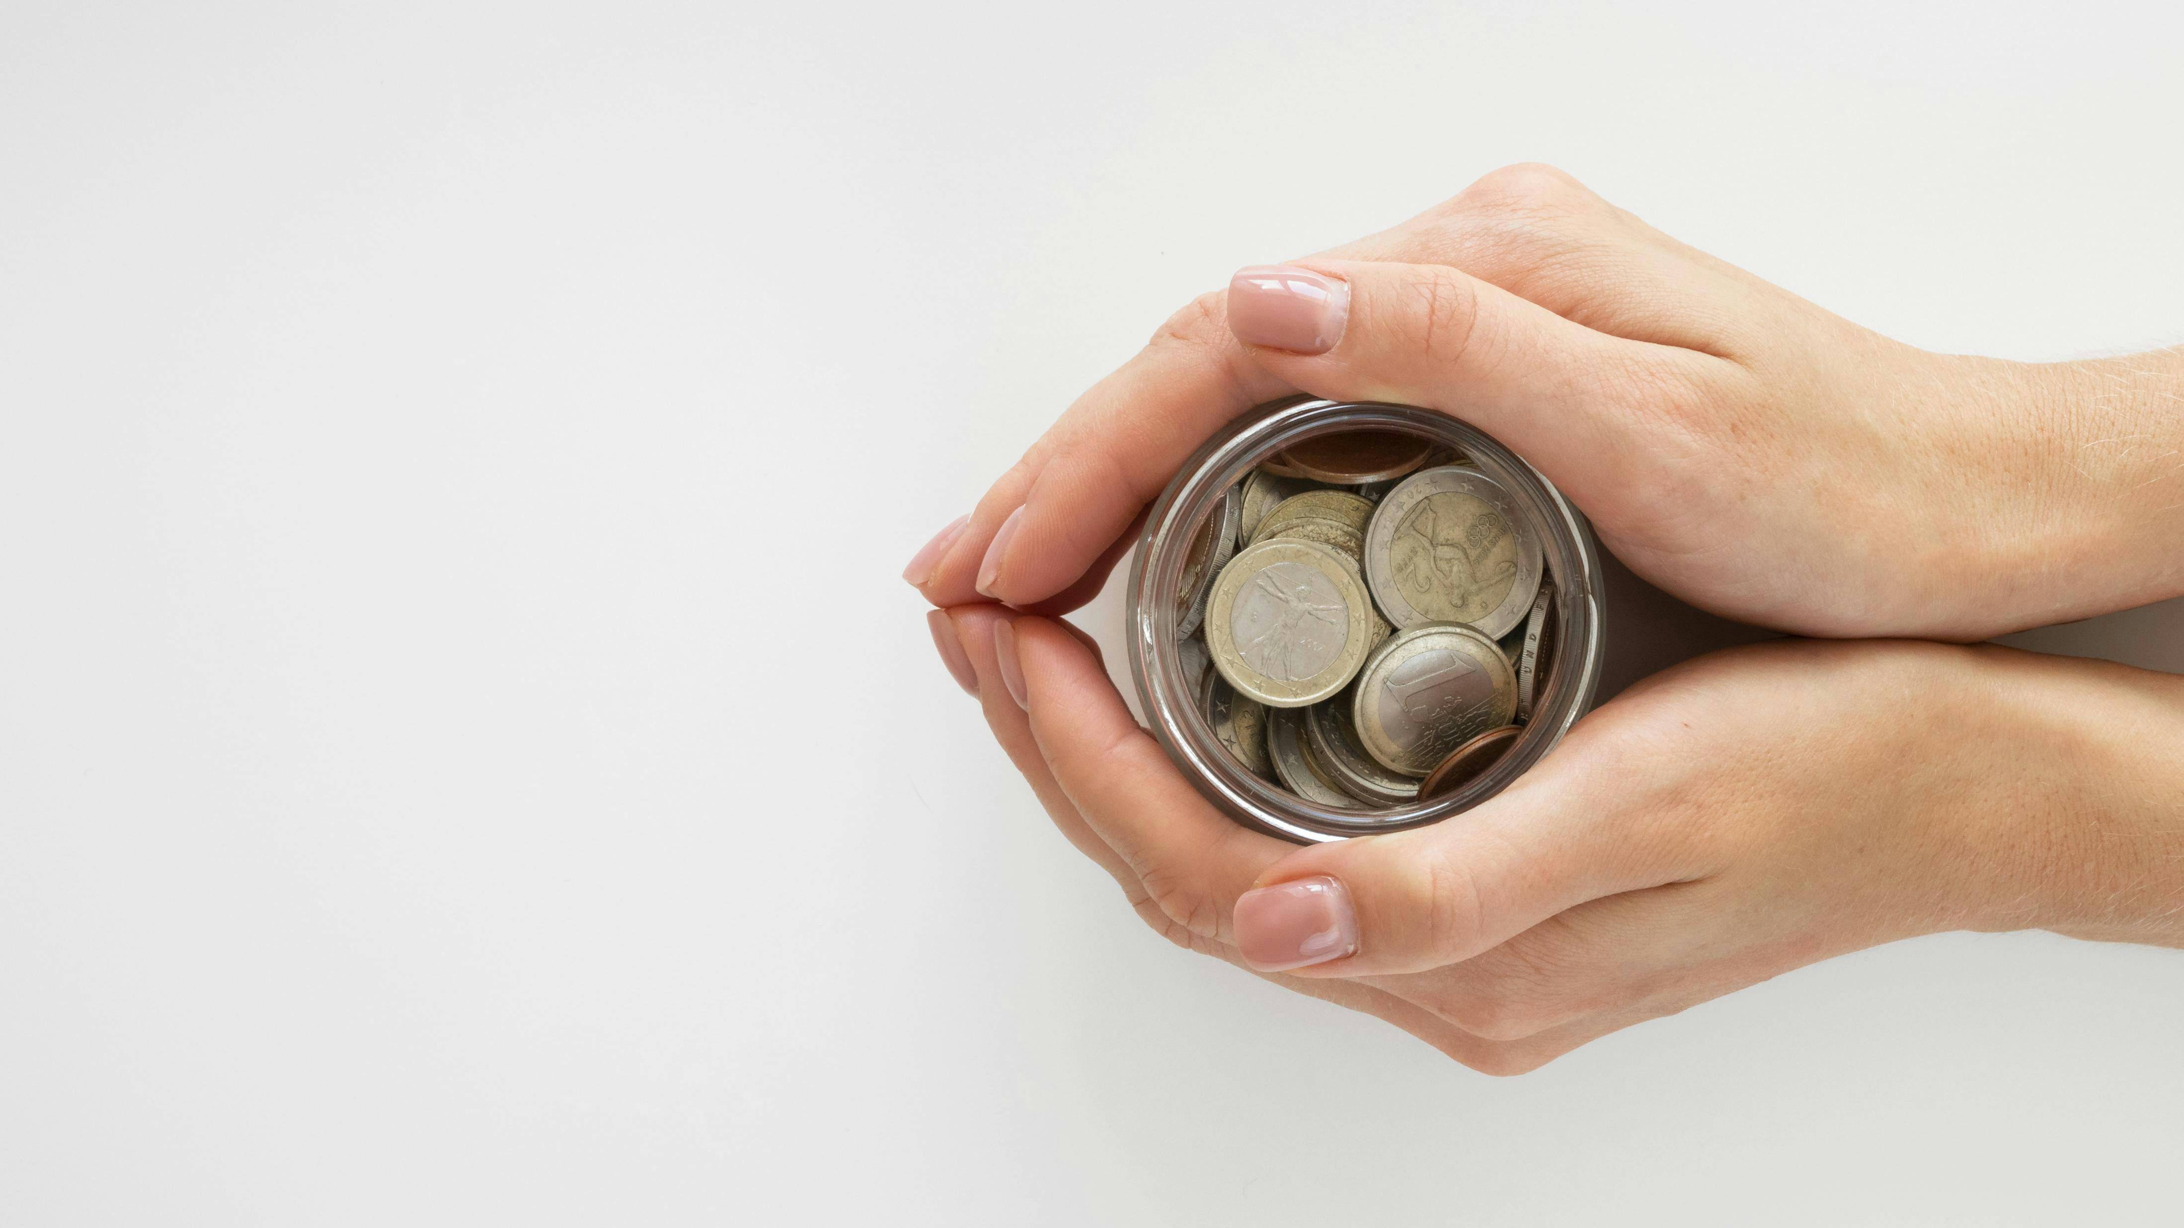
<path fill-rule="evenodd" d="M 2184 957 L 1487 1079 L 1147 931 L 895 579 L 1518 160 L 1920 345 L 2184 336 L 2175 4 L 1787 9 L 0 4 L 0 1221 L 2175 1221 Z"/>

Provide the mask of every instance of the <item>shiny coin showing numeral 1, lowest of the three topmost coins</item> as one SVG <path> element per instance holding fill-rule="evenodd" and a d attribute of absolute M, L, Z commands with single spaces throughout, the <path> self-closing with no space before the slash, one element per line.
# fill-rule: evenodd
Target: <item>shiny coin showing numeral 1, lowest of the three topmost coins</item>
<path fill-rule="evenodd" d="M 1389 636 L 1358 673 L 1352 699 L 1365 752 L 1404 776 L 1433 771 L 1452 747 L 1514 715 L 1509 658 L 1461 623 L 1422 623 Z"/>

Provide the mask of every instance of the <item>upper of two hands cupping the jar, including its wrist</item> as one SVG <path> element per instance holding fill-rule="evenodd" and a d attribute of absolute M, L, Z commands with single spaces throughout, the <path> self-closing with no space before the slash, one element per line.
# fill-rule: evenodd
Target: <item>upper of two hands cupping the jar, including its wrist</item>
<path fill-rule="evenodd" d="M 1192 448 L 1293 391 L 1485 428 L 1631 570 L 1747 623 L 1985 638 L 2184 592 L 2184 350 L 1928 354 L 1540 166 L 1199 297 L 906 579 L 1068 610 Z"/>

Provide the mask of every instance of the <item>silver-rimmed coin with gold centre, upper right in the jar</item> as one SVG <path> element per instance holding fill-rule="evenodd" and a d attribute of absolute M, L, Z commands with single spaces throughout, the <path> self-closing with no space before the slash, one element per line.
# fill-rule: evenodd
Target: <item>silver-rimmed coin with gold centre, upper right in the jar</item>
<path fill-rule="evenodd" d="M 1540 533 L 1487 474 L 1411 474 L 1365 529 L 1365 581 L 1396 627 L 1468 623 L 1496 638 L 1540 590 Z"/>

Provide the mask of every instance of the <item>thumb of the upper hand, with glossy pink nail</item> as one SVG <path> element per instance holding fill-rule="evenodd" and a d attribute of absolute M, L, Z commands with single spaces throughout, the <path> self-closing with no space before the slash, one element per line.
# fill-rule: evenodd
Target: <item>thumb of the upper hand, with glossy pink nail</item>
<path fill-rule="evenodd" d="M 1308 260 L 1241 269 L 1230 328 L 1286 382 L 1332 400 L 1457 415 L 1566 489 L 1618 465 L 1728 363 L 1607 336 L 1441 264 Z M 1577 479 L 1577 481 L 1572 481 Z"/>

